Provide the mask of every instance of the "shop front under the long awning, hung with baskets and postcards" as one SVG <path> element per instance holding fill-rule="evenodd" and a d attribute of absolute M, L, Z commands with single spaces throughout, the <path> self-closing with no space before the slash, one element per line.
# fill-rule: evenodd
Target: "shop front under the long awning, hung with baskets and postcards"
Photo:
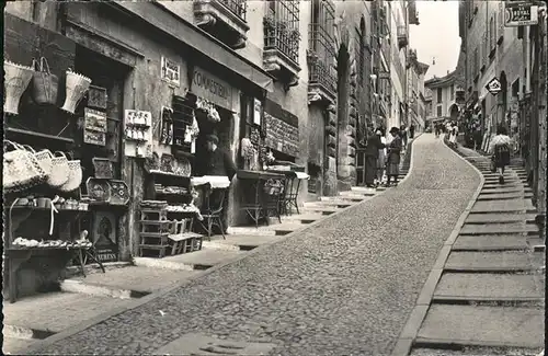
<path fill-rule="evenodd" d="M 139 206 L 147 198 L 150 175 L 147 164 L 165 154 L 179 161 L 175 165 L 180 168 L 195 169 L 203 150 L 199 134 L 189 139 L 187 130 L 178 127 L 174 118 L 180 113 L 174 108 L 181 102 L 189 104 L 196 122 L 203 118 L 199 113 L 217 113 L 213 118 L 205 115 L 205 122 L 215 125 L 205 125 L 202 134 L 216 134 L 219 148 L 232 152 L 237 161 L 242 122 L 252 119 L 254 103 L 263 106 L 266 92 L 272 90 L 272 78 L 152 3 L 31 5 L 13 3 L 7 8 L 4 58 L 21 66 L 44 58 L 48 73 L 58 78 L 58 97 L 38 105 L 33 102 L 31 89 L 21 93 L 15 105 L 19 113 L 4 116 L 5 139 L 28 145 L 35 151 L 65 152 L 79 161 L 82 176 L 78 188 L 47 192 L 44 197 L 59 195 L 76 200 L 80 207 L 85 205 L 89 211 L 79 214 L 78 219 L 70 218 L 79 221 L 77 230 L 64 233 L 87 230 L 101 262 L 129 261 L 138 254 Z M 44 11 L 47 16 L 39 15 Z M 181 33 L 173 33 L 173 28 Z M 219 57 L 224 60 L 212 59 Z M 68 71 L 89 81 L 81 97 L 75 99 L 73 113 L 60 110 L 68 96 Z M 142 116 L 144 122 L 134 123 L 132 118 L 128 124 L 128 117 L 135 115 Z M 262 110 L 259 115 L 261 124 Z M 191 126 L 194 120 L 185 123 Z M 192 173 L 186 169 L 183 174 Z M 119 196 L 116 193 L 107 197 L 105 191 L 118 192 Z M 236 206 L 233 191 L 230 199 Z M 14 198 L 26 199 L 27 193 L 21 192 L 25 196 Z M 90 199 L 93 204 L 83 203 Z M 47 236 L 48 216 L 33 213 L 30 219 L 43 220 L 44 231 L 24 231 L 20 223 L 13 237 Z M 54 230 L 53 236 L 61 233 L 57 227 Z M 45 279 L 56 280 L 62 274 L 64 263 L 47 272 L 41 267 L 44 260 L 33 259 L 18 266 L 20 294 L 35 291 Z"/>

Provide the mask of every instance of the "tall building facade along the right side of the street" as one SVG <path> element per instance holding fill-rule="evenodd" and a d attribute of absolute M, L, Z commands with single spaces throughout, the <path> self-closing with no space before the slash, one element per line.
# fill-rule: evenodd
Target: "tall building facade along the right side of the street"
<path fill-rule="evenodd" d="M 522 2 L 537 12 L 538 24 L 509 25 L 512 1 L 461 1 L 459 34 L 464 57 L 467 117 L 478 119 L 487 137 L 498 125 L 509 128 L 517 143 L 514 159 L 521 161 L 534 188 L 534 200 L 545 200 L 546 179 L 546 5 Z M 460 60 L 459 60 L 460 62 Z M 498 79 L 495 95 L 486 85 Z M 540 204 L 544 206 L 544 204 Z M 541 209 L 541 214 L 545 208 Z"/>

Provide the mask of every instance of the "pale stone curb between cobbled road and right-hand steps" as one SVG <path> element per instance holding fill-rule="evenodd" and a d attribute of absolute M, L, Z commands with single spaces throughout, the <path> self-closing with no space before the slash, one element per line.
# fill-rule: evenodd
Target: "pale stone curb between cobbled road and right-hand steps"
<path fill-rule="evenodd" d="M 478 175 L 480 176 L 480 184 L 478 185 L 478 188 L 476 190 L 472 197 L 468 202 L 468 206 L 465 208 L 463 214 L 460 214 L 460 217 L 458 218 L 449 237 L 447 238 L 447 240 L 445 240 L 445 243 L 442 246 L 439 254 L 437 255 L 436 262 L 434 263 L 432 271 L 430 272 L 430 275 L 426 278 L 426 283 L 424 284 L 421 294 L 416 299 L 415 307 L 411 311 L 411 314 L 409 315 L 408 321 L 403 326 L 400 336 L 398 337 L 396 346 L 392 349 L 391 353 L 392 356 L 408 356 L 409 353 L 411 353 L 411 348 L 413 347 L 416 334 L 419 333 L 419 330 L 424 319 L 426 318 L 426 313 L 430 309 L 430 305 L 434 297 L 434 290 L 437 286 L 437 283 L 439 282 L 439 278 L 442 277 L 443 268 L 445 263 L 447 262 L 447 259 L 449 257 L 453 244 L 457 240 L 460 229 L 465 225 L 465 220 L 468 218 L 468 215 L 470 214 L 473 204 L 476 204 L 476 200 L 478 199 L 478 196 L 481 190 L 483 188 L 483 184 L 486 182 L 486 179 L 483 177 L 483 174 L 480 172 L 480 170 L 478 170 L 472 163 L 464 159 L 460 154 L 458 154 L 450 147 L 448 147 L 445 143 L 445 140 L 442 140 L 442 142 L 445 146 L 445 148 L 447 148 L 455 156 L 457 156 L 459 159 L 461 159 L 464 162 L 470 165 L 476 171 L 476 173 L 478 173 Z"/>

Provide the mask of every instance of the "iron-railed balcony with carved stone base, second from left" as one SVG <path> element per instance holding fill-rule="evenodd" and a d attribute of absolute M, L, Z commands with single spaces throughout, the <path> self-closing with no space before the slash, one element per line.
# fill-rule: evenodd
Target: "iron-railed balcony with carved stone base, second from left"
<path fill-rule="evenodd" d="M 276 1 L 286 5 L 289 1 Z M 264 18 L 263 67 L 284 82 L 285 90 L 298 83 L 299 42 L 298 18 L 296 21 L 281 20 L 273 13 Z"/>

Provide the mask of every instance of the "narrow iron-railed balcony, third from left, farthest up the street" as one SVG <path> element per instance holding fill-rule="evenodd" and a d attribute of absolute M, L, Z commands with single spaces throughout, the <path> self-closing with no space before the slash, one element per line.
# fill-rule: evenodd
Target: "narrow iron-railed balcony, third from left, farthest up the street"
<path fill-rule="evenodd" d="M 336 96 L 333 69 L 334 41 L 327 30 L 318 24 L 310 24 L 308 32 L 308 101 L 333 104 Z"/>

